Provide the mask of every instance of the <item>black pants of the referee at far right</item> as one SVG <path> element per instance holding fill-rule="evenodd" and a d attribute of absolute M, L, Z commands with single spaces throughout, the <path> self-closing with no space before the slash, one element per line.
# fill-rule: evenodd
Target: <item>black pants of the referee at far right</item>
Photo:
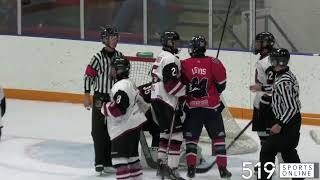
<path fill-rule="evenodd" d="M 285 163 L 300 163 L 300 158 L 296 147 L 299 143 L 301 127 L 301 114 L 297 113 L 288 124 L 286 124 L 279 134 L 270 135 L 262 145 L 260 151 L 261 179 L 265 180 L 268 173 L 264 171 L 264 164 L 275 162 L 275 156 L 281 153 Z M 270 170 L 271 167 L 268 166 Z M 269 178 L 271 179 L 271 177 Z M 294 178 L 293 178 L 294 179 Z"/>

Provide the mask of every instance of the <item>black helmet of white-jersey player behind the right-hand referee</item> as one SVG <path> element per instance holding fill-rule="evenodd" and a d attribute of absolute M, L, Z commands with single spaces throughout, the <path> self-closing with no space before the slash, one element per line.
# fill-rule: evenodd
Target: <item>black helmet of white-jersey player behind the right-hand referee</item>
<path fill-rule="evenodd" d="M 274 44 L 275 44 L 275 38 L 274 38 L 273 34 L 271 34 L 270 32 L 261 32 L 261 33 L 257 34 L 255 41 L 260 42 L 261 46 L 259 49 L 255 48 L 254 54 L 261 53 L 261 51 L 263 49 L 267 49 L 267 50 L 271 51 L 273 49 Z"/>

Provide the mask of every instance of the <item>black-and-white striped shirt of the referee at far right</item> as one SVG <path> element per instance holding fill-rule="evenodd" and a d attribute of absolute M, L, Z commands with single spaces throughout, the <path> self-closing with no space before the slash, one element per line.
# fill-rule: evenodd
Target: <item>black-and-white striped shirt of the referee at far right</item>
<path fill-rule="evenodd" d="M 287 69 L 277 72 L 272 91 L 272 110 L 280 125 L 288 124 L 300 112 L 299 83 Z"/>

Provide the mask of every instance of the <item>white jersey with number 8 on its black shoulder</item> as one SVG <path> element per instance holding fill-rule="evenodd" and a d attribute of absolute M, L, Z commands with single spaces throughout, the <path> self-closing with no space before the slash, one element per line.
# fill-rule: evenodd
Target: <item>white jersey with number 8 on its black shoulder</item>
<path fill-rule="evenodd" d="M 117 95 L 121 92 L 122 95 Z M 130 79 L 122 79 L 116 82 L 110 93 L 111 101 L 104 104 L 101 108 L 102 114 L 107 116 L 107 125 L 110 139 L 113 140 L 130 130 L 139 128 L 147 119 L 144 111 L 148 106 L 143 98 L 139 95 L 139 90 Z M 112 112 L 113 105 L 126 101 L 125 113 Z"/>

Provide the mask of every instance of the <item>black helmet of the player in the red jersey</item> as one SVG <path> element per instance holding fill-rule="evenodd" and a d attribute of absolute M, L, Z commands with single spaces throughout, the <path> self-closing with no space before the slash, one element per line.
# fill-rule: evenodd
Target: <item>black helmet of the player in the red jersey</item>
<path fill-rule="evenodd" d="M 188 52 L 190 56 L 204 55 L 207 50 L 206 38 L 202 35 L 193 36 L 189 42 Z"/>

